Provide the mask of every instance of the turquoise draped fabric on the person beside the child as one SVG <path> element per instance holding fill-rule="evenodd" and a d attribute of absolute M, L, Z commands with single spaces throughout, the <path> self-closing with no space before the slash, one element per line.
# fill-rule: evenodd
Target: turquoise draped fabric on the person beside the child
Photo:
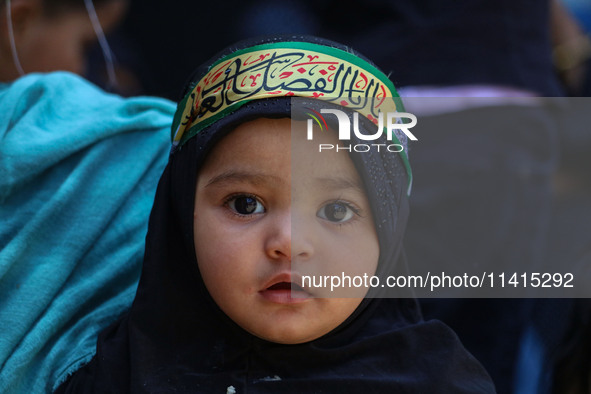
<path fill-rule="evenodd" d="M 131 305 L 175 104 L 0 84 L 0 392 L 49 393 Z"/>

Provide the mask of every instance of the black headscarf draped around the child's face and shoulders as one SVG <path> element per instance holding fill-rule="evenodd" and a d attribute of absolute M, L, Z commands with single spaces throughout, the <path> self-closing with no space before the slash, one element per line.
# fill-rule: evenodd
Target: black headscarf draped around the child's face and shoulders
<path fill-rule="evenodd" d="M 315 38 L 289 40 L 337 46 L 351 53 Z M 225 53 L 248 45 L 253 43 Z M 199 80 L 203 72 L 192 80 Z M 212 146 L 238 124 L 286 117 L 290 110 L 289 98 L 250 101 L 175 149 L 158 185 L 133 306 L 100 335 L 96 356 L 58 392 L 494 392 L 488 374 L 456 335 L 440 322 L 424 322 L 413 298 L 366 298 L 333 331 L 297 345 L 276 344 L 247 333 L 213 301 L 199 273 L 193 244 L 199 169 Z M 400 155 L 382 150 L 351 157 L 364 181 L 376 225 L 378 272 L 404 272 L 408 177 Z"/>

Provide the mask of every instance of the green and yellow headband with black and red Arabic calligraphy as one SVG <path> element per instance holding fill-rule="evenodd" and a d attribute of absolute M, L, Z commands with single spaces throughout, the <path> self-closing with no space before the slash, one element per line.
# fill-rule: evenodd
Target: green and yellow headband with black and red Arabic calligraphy
<path fill-rule="evenodd" d="M 388 77 L 358 56 L 308 42 L 268 43 L 219 59 L 192 86 L 173 120 L 173 148 L 246 103 L 293 96 L 338 104 L 374 123 L 380 111 L 404 111 Z M 404 134 L 396 133 L 392 138 L 406 149 Z M 412 172 L 405 149 L 399 154 L 410 192 Z"/>

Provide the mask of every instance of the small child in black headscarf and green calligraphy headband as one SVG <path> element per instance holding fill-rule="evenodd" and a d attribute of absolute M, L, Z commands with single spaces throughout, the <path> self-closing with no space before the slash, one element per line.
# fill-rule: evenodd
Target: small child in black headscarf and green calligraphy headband
<path fill-rule="evenodd" d="M 319 129 L 310 140 L 292 96 L 311 111 L 346 96 L 345 111 L 396 91 L 351 49 L 310 37 L 244 42 L 197 70 L 134 304 L 58 392 L 494 392 L 412 298 L 318 298 L 303 286 L 303 269 L 403 271 L 410 170 L 405 151 L 318 152 L 367 141 Z M 347 111 L 375 134 L 363 106 Z"/>

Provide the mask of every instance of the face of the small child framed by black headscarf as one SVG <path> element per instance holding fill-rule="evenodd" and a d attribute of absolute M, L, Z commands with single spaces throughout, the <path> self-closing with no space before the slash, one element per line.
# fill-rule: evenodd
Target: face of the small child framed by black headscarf
<path fill-rule="evenodd" d="M 307 289 L 299 295 L 308 297 L 292 298 L 288 283 L 301 284 L 298 267 L 318 275 L 377 268 L 377 235 L 353 162 L 346 151 L 315 151 L 318 143 L 336 144 L 333 134 L 318 132 L 310 144 L 305 132 L 292 138 L 289 119 L 257 119 L 220 141 L 199 173 L 199 270 L 218 306 L 260 338 L 314 340 L 361 302 L 365 292 L 315 298 Z"/>

